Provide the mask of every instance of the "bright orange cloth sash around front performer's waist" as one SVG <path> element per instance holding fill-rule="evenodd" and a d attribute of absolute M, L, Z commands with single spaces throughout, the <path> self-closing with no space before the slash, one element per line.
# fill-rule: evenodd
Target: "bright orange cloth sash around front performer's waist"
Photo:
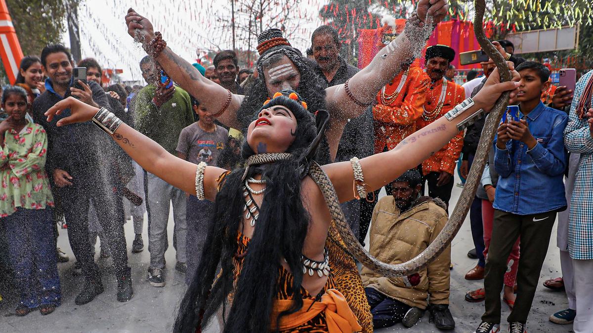
<path fill-rule="evenodd" d="M 313 299 L 303 299 L 302 308 L 291 315 L 283 316 L 280 319 L 280 331 L 291 329 L 305 324 L 315 318 L 322 311 L 326 314 L 327 329 L 330 333 L 352 333 L 361 331 L 362 327 L 358 324 L 358 319 L 346 298 L 337 289 L 328 289 L 321 296 L 321 302 Z M 276 300 L 272 312 L 272 325 L 276 322 L 278 315 L 292 306 L 292 300 Z"/>

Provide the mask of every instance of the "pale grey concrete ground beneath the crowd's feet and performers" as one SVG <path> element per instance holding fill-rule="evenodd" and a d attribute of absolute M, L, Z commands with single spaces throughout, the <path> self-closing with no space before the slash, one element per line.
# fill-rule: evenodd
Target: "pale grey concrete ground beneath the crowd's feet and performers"
<path fill-rule="evenodd" d="M 451 206 L 455 205 L 460 193 L 460 187 L 453 188 Z M 128 249 L 130 249 L 133 240 L 132 223 L 126 223 L 125 228 L 127 245 Z M 184 276 L 174 270 L 176 261 L 172 245 L 173 217 L 170 217 L 168 228 L 170 247 L 165 254 L 167 260 L 167 285 L 165 287 L 152 287 L 146 281 L 146 270 L 148 270 L 149 262 L 149 253 L 146 249 L 146 245 L 148 245 L 146 226 L 144 230 L 145 250 L 139 254 L 128 252 L 135 292 L 130 302 L 117 302 L 115 296 L 116 281 L 110 272 L 110 259 L 108 259 L 99 261 L 100 267 L 105 268 L 103 278 L 105 292 L 87 305 L 75 305 L 74 298 L 78 294 L 82 283 L 84 283 L 84 278 L 72 276 L 74 255 L 72 255 L 68 245 L 66 230 L 60 229 L 58 245 L 71 258 L 69 262 L 58 264 L 62 281 L 62 305 L 48 316 L 42 316 L 39 312 L 31 312 L 25 317 L 17 317 L 14 315 L 17 294 L 14 287 L 2 281 L 0 283 L 0 294 L 2 294 L 4 300 L 0 302 L 0 332 L 170 332 L 178 302 L 185 289 Z M 466 222 L 452 242 L 451 260 L 454 269 L 451 271 L 450 308 L 457 325 L 455 332 L 473 332 L 480 323 L 480 316 L 484 310 L 483 303 L 468 303 L 464 300 L 464 294 L 468 290 L 482 287 L 483 283 L 482 281 L 464 279 L 467 271 L 474 267 L 477 262 L 466 255 L 471 248 L 473 248 L 473 242 L 471 240 L 470 223 L 469 219 L 466 218 Z M 556 325 L 548 320 L 551 313 L 568 307 L 565 294 L 563 292 L 551 292 L 541 286 L 541 283 L 547 278 L 561 275 L 559 254 L 556 248 L 556 228 L 554 228 L 546 262 L 541 270 L 530 319 L 527 323 L 528 331 L 572 332 L 572 325 Z M 504 304 L 502 309 L 502 322 L 505 323 L 509 309 Z M 506 324 L 503 324 L 502 329 L 506 332 Z M 205 331 L 218 332 L 219 326 L 214 323 Z M 377 330 L 377 332 L 390 331 L 437 332 L 439 330 L 429 323 L 428 313 L 426 313 L 413 328 L 404 328 L 404 326 L 398 324 L 391 328 Z"/>

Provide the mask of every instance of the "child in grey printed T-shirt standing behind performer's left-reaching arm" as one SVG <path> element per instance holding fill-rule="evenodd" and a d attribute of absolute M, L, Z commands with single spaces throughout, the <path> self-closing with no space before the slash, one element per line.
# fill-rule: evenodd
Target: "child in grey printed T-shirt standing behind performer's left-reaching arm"
<path fill-rule="evenodd" d="M 221 151 L 228 143 L 228 130 L 214 123 L 214 118 L 199 101 L 192 98 L 192 108 L 198 120 L 181 130 L 177 142 L 177 156 L 195 164 L 206 162 L 216 166 Z M 198 200 L 195 196 L 187 196 L 187 253 L 200 254 L 206 241 L 206 230 L 211 220 L 214 203 Z M 186 282 L 193 279 L 199 258 L 187 256 Z"/>

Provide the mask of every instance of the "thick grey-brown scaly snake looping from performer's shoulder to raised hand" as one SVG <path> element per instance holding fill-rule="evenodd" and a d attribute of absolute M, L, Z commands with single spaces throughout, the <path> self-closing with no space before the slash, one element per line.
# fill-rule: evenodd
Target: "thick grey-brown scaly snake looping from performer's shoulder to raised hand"
<path fill-rule="evenodd" d="M 482 20 L 484 17 L 484 10 L 486 9 L 485 1 L 475 0 L 474 3 L 476 8 L 476 16 L 474 18 L 474 32 L 476 34 L 476 39 L 478 40 L 478 43 L 484 52 L 486 52 L 486 54 L 496 64 L 496 67 L 500 73 L 500 81 L 510 81 L 511 72 L 509 72 L 509 68 L 506 65 L 505 59 L 503 59 L 502 55 L 500 55 L 498 50 L 496 50 L 496 47 L 494 47 L 490 41 L 486 39 L 486 35 L 484 34 Z M 331 184 L 329 178 L 319 167 L 319 165 L 313 162 L 310 165 L 308 174 L 320 187 L 321 193 L 323 193 L 337 231 L 340 233 L 340 236 L 346 244 L 347 251 L 349 251 L 350 254 L 352 254 L 366 267 L 387 277 L 401 277 L 416 273 L 417 271 L 426 267 L 426 265 L 428 265 L 436 257 L 438 257 L 438 255 L 441 254 L 441 252 L 444 251 L 444 249 L 447 248 L 449 244 L 451 244 L 452 239 L 455 237 L 455 235 L 457 235 L 457 232 L 461 228 L 461 225 L 466 218 L 467 212 L 471 206 L 471 202 L 476 196 L 476 190 L 480 184 L 480 178 L 482 178 L 481 176 L 484 170 L 484 165 L 486 165 L 486 159 L 490 148 L 492 147 L 492 142 L 494 140 L 494 135 L 496 133 L 496 129 L 498 128 L 500 118 L 502 117 L 502 113 L 506 110 L 508 103 L 509 92 L 505 92 L 498 98 L 494 107 L 492 108 L 490 116 L 488 117 L 486 124 L 484 124 L 484 129 L 482 136 L 480 137 L 476 156 L 474 157 L 473 164 L 471 165 L 466 184 L 463 187 L 463 191 L 461 191 L 461 196 L 457 201 L 457 206 L 455 206 L 451 216 L 449 216 L 447 224 L 441 230 L 441 233 L 439 233 L 436 239 L 424 251 L 422 251 L 422 253 L 417 255 L 412 260 L 403 262 L 401 264 L 385 264 L 384 262 L 377 260 L 377 258 L 374 258 L 362 247 L 356 236 L 352 233 L 342 209 L 340 209 L 339 200 L 337 198 L 333 184 Z"/>

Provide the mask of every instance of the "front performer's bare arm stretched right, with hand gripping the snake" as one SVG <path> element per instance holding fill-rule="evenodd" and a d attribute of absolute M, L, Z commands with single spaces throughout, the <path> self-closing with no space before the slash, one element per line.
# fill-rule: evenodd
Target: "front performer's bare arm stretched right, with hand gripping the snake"
<path fill-rule="evenodd" d="M 512 63 L 509 63 L 509 68 L 514 69 Z M 364 182 L 368 185 L 367 190 L 377 190 L 396 180 L 406 170 L 416 168 L 417 165 L 439 151 L 452 137 L 459 133 L 457 124 L 480 110 L 480 108 L 490 111 L 503 92 L 512 91 L 511 98 L 513 98 L 518 87 L 519 74 L 516 71 L 513 71 L 512 74 L 513 81 L 500 83 L 498 69 L 495 69 L 479 94 L 473 98 L 474 106 L 464 111 L 460 116 L 451 121 L 441 117 L 429 126 L 423 127 L 416 133 L 406 137 L 393 150 L 361 159 Z M 333 182 L 340 202 L 349 201 L 355 197 L 353 190 L 354 176 L 350 162 L 324 165 L 323 169 Z"/>

